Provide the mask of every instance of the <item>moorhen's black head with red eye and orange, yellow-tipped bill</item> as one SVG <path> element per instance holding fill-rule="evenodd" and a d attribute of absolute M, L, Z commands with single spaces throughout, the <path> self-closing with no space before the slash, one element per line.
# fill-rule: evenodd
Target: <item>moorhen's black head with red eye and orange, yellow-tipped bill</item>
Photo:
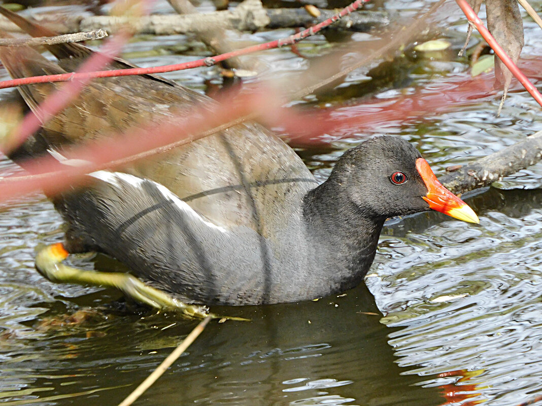
<path fill-rule="evenodd" d="M 435 209 L 478 222 L 472 209 L 438 182 L 418 150 L 399 137 L 380 136 L 347 150 L 330 181 L 371 218 Z"/>

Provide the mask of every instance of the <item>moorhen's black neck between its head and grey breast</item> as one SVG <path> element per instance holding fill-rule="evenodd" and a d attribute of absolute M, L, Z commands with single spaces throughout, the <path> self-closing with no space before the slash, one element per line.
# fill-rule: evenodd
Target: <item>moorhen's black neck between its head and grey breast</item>
<path fill-rule="evenodd" d="M 326 274 L 349 289 L 362 281 L 375 258 L 385 217 L 364 212 L 333 178 L 305 195 L 303 215 Z M 318 260 L 318 259 L 317 259 Z"/>

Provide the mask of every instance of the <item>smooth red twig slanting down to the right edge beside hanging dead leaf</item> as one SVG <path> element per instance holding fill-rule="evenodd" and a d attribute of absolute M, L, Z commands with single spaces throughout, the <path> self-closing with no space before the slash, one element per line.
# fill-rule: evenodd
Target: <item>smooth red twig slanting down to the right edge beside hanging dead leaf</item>
<path fill-rule="evenodd" d="M 460 6 L 461 10 L 463 10 L 464 14 L 467 16 L 467 19 L 475 25 L 478 32 L 480 32 L 483 39 L 486 40 L 486 42 L 493 49 L 495 54 L 506 65 L 506 67 L 512 72 L 515 78 L 517 78 L 517 80 L 520 81 L 520 83 L 531 94 L 531 96 L 534 97 L 534 100 L 536 100 L 538 104 L 542 106 L 542 95 L 539 93 L 538 89 L 534 87 L 534 85 L 527 79 L 527 77 L 521 72 L 521 70 L 519 70 L 516 64 L 506 54 L 504 49 L 501 48 L 499 43 L 495 41 L 495 38 L 493 37 L 493 35 L 491 35 L 491 32 L 489 32 L 488 29 L 483 25 L 482 21 L 480 20 L 478 15 L 476 15 L 472 7 L 467 3 L 466 0 L 455 0 L 455 1 L 457 5 Z"/>

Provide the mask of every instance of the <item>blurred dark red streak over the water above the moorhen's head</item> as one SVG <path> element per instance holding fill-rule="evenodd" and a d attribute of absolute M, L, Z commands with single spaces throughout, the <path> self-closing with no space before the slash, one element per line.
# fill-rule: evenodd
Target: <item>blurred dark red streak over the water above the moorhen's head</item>
<path fill-rule="evenodd" d="M 542 62 L 534 57 L 523 58 L 519 67 L 531 81 L 542 80 Z M 383 133 L 403 123 L 425 119 L 459 109 L 461 106 L 500 98 L 502 91 L 494 88 L 493 73 L 471 77 L 468 72 L 447 75 L 433 83 L 425 83 L 412 94 L 392 99 L 373 96 L 356 106 L 329 109 L 300 121 L 285 113 L 281 127 L 292 146 L 315 146 L 352 137 L 353 133 Z M 522 91 L 513 80 L 509 93 Z M 506 103 L 506 102 L 505 102 Z M 293 113 L 290 113 L 293 114 Z"/>

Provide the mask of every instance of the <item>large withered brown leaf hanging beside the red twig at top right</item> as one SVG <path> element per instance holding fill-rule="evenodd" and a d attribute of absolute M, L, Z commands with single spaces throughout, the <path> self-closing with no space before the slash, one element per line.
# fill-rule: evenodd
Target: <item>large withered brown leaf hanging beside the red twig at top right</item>
<path fill-rule="evenodd" d="M 516 0 L 486 0 L 487 28 L 508 54 L 514 63 L 518 62 L 523 40 L 523 21 Z M 508 87 L 512 81 L 512 72 L 508 70 L 498 56 L 495 55 L 495 79 L 501 84 L 502 94 L 499 106 L 500 114 L 502 103 L 506 99 Z"/>

